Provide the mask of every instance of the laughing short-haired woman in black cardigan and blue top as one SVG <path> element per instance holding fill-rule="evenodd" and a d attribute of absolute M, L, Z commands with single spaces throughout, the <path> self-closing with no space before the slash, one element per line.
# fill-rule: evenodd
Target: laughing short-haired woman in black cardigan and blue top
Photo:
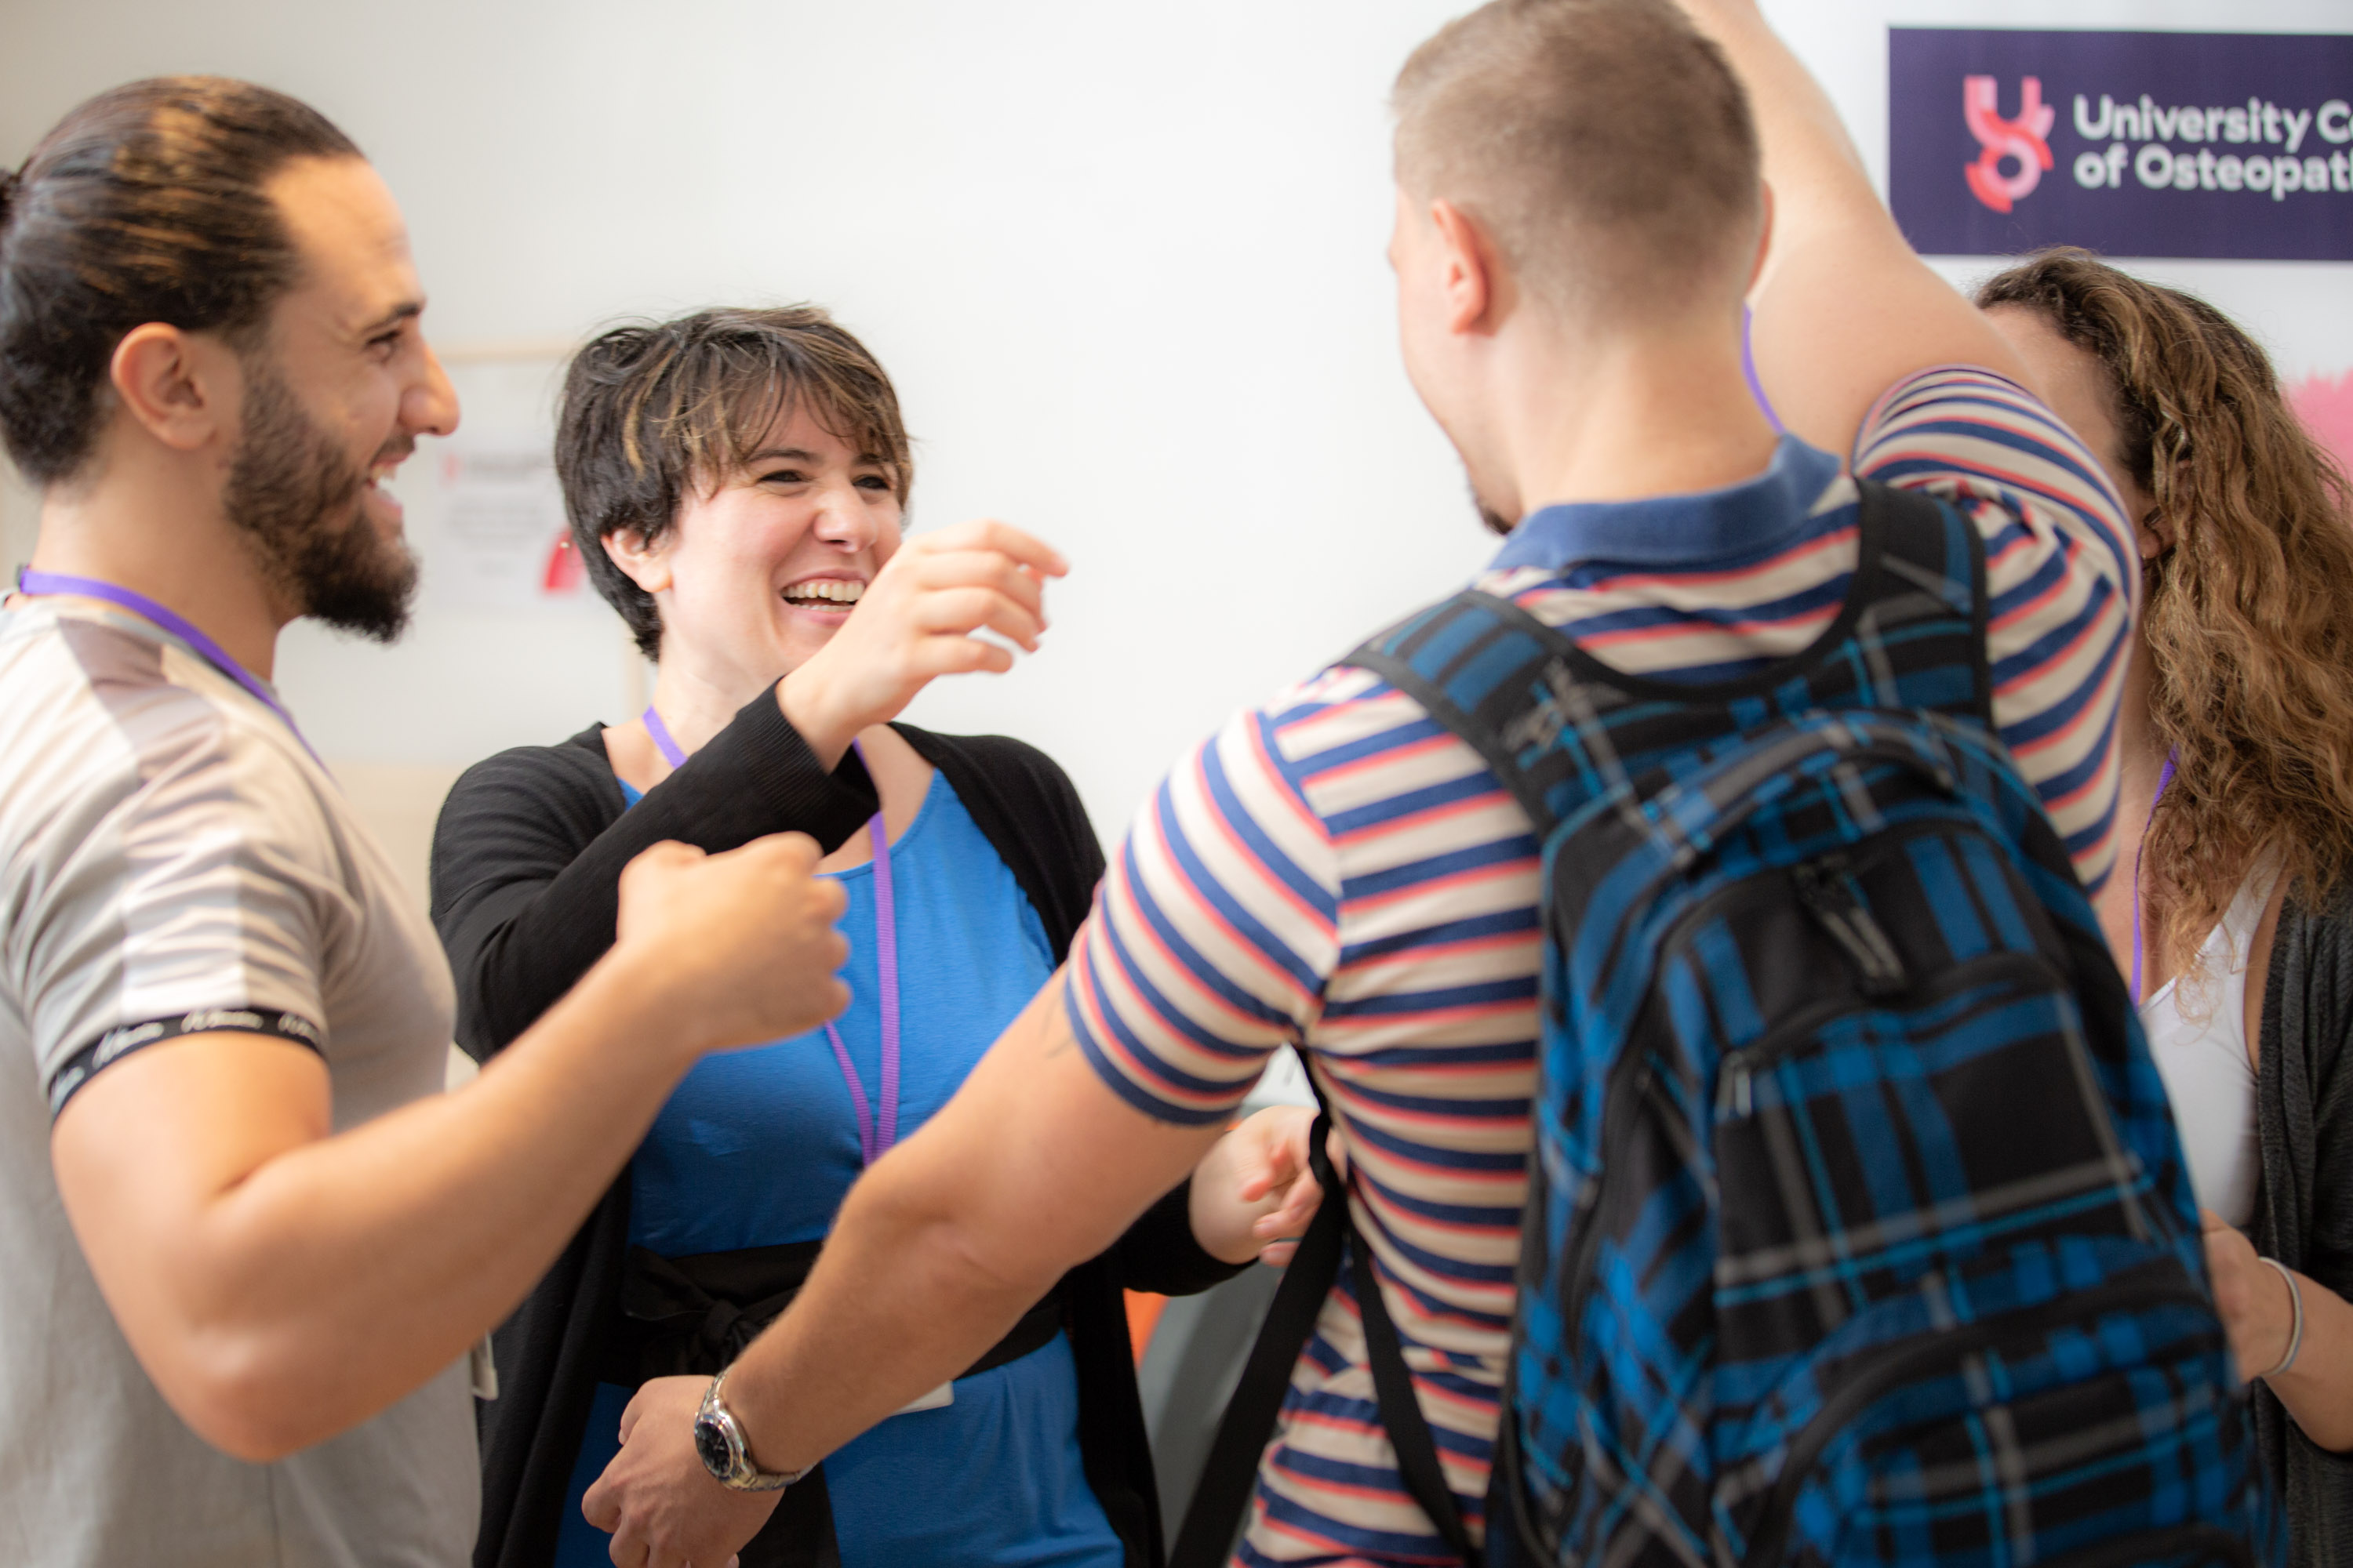
<path fill-rule="evenodd" d="M 854 1001 L 682 1081 L 501 1331 L 478 1563 L 635 1561 L 605 1530 L 640 1521 L 593 1488 L 621 1462 L 671 1462 L 694 1509 L 758 1528 L 746 1568 L 826 1544 L 852 1568 L 1158 1561 L 1120 1288 L 1200 1291 L 1257 1253 L 1264 1208 L 1224 1175 L 1169 1192 L 784 1507 L 708 1479 L 685 1420 L 624 1413 L 680 1378 L 692 1408 L 798 1291 L 852 1180 L 958 1091 L 1085 917 L 1104 860 L 1061 769 L 1019 741 L 892 724 L 939 675 L 1012 665 L 981 628 L 1035 649 L 1061 559 L 998 522 L 901 541 L 896 395 L 812 308 L 595 339 L 565 381 L 558 473 L 574 543 L 659 677 L 635 719 L 492 757 L 452 792 L 433 917 L 459 1041 L 487 1058 L 572 985 L 612 940 L 619 867 L 656 839 L 816 837 L 847 891 Z M 1306 1117 L 1247 1126 L 1233 1147 L 1304 1138 Z"/>

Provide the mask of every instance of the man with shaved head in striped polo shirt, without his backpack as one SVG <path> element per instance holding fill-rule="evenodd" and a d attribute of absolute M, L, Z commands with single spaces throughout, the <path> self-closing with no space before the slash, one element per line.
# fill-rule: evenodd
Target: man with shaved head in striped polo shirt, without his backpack
<path fill-rule="evenodd" d="M 2099 882 L 2137 581 L 2115 494 L 1904 244 L 1751 0 L 1494 0 L 1414 52 L 1395 113 L 1405 367 L 1508 534 L 1478 588 L 1666 698 L 1772 679 L 1845 637 L 1857 477 L 1929 491 L 1986 543 L 1993 719 Z M 1786 430 L 1744 374 L 1744 303 Z M 1240 1561 L 1464 1554 L 1400 1479 L 1365 1291 L 1433 1434 L 1438 1512 L 1494 1547 L 1537 856 L 1487 762 L 1348 663 L 1184 757 L 1064 973 L 849 1194 L 793 1309 L 722 1387 L 640 1394 L 588 1497 L 614 1561 L 725 1561 L 744 1514 L 694 1434 L 732 1483 L 774 1483 L 932 1387 L 1167 1190 L 1282 1046 L 1348 1157 L 1348 1262 Z"/>

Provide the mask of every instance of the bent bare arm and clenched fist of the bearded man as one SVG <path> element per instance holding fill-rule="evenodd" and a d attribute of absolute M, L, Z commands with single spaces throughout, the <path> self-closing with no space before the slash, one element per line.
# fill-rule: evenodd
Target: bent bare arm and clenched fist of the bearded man
<path fill-rule="evenodd" d="M 104 1067 L 52 1133 L 59 1197 L 139 1363 L 209 1443 L 275 1460 L 416 1389 L 506 1316 L 711 1048 L 847 990 L 816 846 L 668 844 L 621 940 L 480 1079 L 334 1133 L 327 1070 L 252 1032 Z"/>

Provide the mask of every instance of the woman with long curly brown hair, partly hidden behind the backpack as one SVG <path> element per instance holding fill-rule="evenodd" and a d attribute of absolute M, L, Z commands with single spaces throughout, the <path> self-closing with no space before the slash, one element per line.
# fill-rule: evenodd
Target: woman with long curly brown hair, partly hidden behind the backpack
<path fill-rule="evenodd" d="M 2264 350 L 2078 249 L 1977 303 L 2139 522 L 2099 898 L 2299 1568 L 2353 1563 L 2353 491 Z"/>

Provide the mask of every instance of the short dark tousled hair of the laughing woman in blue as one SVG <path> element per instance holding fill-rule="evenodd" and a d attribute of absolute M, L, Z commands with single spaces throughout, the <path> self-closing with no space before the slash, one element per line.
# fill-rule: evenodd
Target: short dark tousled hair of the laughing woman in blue
<path fill-rule="evenodd" d="M 906 505 L 915 468 L 899 393 L 866 346 L 816 306 L 635 322 L 572 357 L 555 425 L 572 545 L 647 658 L 661 651 L 661 611 L 605 555 L 605 538 L 628 529 L 659 543 L 689 491 L 722 484 L 776 418 L 800 407 L 861 458 L 887 465 Z"/>

